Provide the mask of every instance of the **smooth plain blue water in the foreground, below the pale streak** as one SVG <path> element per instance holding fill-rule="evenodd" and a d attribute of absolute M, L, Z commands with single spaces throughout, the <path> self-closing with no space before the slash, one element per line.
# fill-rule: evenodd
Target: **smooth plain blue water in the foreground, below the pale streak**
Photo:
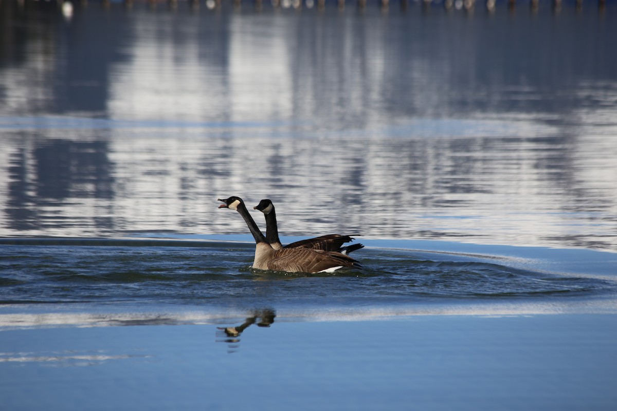
<path fill-rule="evenodd" d="M 614 325 L 607 315 L 275 322 L 236 343 L 199 325 L 31 329 L 2 333 L 0 393 L 14 410 L 611 410 Z"/>

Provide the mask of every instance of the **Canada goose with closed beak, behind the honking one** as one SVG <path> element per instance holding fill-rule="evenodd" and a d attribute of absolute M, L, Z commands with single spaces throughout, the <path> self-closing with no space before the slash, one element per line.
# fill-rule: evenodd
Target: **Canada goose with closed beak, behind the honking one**
<path fill-rule="evenodd" d="M 328 234 L 321 235 L 320 237 L 307 238 L 307 240 L 300 240 L 295 243 L 288 244 L 286 246 L 281 245 L 281 240 L 278 238 L 278 224 L 276 223 L 276 211 L 272 201 L 265 199 L 259 201 L 259 204 L 253 207 L 254 210 L 259 210 L 263 213 L 266 219 L 266 240 L 272 248 L 278 250 L 279 248 L 315 248 L 315 250 L 325 251 L 338 251 L 339 253 L 349 254 L 352 251 L 360 250 L 364 246 L 362 244 L 352 244 L 342 246 L 344 243 L 354 241 L 354 238 L 350 235 L 341 234 Z"/>

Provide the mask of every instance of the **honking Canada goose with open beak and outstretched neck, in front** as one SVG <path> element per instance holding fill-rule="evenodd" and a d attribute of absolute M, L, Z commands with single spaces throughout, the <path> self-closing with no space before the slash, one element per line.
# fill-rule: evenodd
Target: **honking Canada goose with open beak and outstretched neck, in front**
<path fill-rule="evenodd" d="M 253 268 L 259 270 L 286 271 L 286 272 L 334 272 L 338 269 L 360 268 L 358 261 L 346 254 L 336 251 L 314 250 L 313 248 L 280 248 L 275 250 L 267 242 L 255 221 L 246 209 L 244 201 L 239 197 L 225 198 L 218 208 L 236 210 L 246 221 L 253 238 L 255 238 L 255 259 Z"/>

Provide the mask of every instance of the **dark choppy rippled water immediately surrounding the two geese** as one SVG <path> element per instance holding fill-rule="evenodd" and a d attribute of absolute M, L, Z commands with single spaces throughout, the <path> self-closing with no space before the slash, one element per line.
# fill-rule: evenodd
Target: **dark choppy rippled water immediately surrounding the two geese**
<path fill-rule="evenodd" d="M 249 269 L 250 251 L 221 245 L 199 250 L 24 246 L 7 251 L 2 253 L 0 282 L 4 287 L 3 303 L 9 304 L 116 304 L 138 299 L 141 304 L 250 307 L 300 299 L 323 306 L 333 298 L 339 304 L 353 306 L 380 299 L 413 302 L 424 297 L 592 295 L 613 287 L 595 279 L 564 278 L 514 269 L 499 262 L 426 252 L 367 250 L 362 254 L 366 266 L 362 271 L 307 275 L 253 272 Z M 294 280 L 276 281 L 284 279 Z"/>

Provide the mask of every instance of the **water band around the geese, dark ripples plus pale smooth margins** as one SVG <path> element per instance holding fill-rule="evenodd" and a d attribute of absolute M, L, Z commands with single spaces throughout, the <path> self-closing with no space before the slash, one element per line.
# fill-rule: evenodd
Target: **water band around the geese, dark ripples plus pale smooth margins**
<path fill-rule="evenodd" d="M 590 250 L 366 240 L 355 253 L 363 269 L 333 275 L 255 271 L 250 242 L 1 242 L 0 317 L 9 328 L 159 324 L 161 316 L 168 324 L 203 324 L 255 309 L 306 320 L 617 309 L 615 254 Z M 14 315 L 24 310 L 25 317 Z"/>

